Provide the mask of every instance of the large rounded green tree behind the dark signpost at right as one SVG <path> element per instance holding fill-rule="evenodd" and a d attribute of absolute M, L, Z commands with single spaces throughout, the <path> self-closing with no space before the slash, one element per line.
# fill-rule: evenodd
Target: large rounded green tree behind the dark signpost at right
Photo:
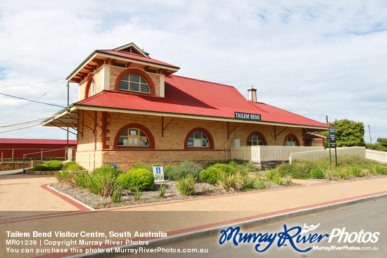
<path fill-rule="evenodd" d="M 335 120 L 329 125 L 336 127 L 337 147 L 365 146 L 364 124 L 362 122 L 344 119 Z"/>

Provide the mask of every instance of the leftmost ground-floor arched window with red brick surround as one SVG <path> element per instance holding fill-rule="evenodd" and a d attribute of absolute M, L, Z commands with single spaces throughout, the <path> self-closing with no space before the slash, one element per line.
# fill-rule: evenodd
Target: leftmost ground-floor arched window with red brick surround
<path fill-rule="evenodd" d="M 127 124 L 115 136 L 115 148 L 155 148 L 155 139 L 151 131 L 142 124 Z"/>

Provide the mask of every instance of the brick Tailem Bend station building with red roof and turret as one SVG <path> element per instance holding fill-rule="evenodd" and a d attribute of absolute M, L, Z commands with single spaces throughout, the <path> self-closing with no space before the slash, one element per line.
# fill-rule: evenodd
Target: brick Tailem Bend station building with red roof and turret
<path fill-rule="evenodd" d="M 231 146 L 307 146 L 328 125 L 248 99 L 233 86 L 173 75 L 179 67 L 135 44 L 96 50 L 67 78 L 79 101 L 44 121 L 77 131 L 77 162 L 227 160 Z"/>

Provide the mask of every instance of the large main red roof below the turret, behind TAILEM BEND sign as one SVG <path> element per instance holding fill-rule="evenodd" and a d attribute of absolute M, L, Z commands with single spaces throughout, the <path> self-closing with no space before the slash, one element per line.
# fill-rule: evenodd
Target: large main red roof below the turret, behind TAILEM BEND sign
<path fill-rule="evenodd" d="M 234 118 L 234 112 L 246 112 L 261 115 L 262 122 L 328 127 L 272 105 L 251 103 L 233 86 L 176 75 L 165 77 L 165 98 L 102 91 L 75 105 L 224 118 Z"/>

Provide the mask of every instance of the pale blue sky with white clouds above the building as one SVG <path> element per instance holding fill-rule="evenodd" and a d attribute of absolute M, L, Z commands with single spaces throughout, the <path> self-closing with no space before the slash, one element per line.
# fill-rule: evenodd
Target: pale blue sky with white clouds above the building
<path fill-rule="evenodd" d="M 90 53 L 131 42 L 175 75 L 246 97 L 254 86 L 259 102 L 387 138 L 387 0 L 0 0 L 0 138 L 65 139 L 53 127 L 1 132 L 61 110 L 65 78 Z"/>

